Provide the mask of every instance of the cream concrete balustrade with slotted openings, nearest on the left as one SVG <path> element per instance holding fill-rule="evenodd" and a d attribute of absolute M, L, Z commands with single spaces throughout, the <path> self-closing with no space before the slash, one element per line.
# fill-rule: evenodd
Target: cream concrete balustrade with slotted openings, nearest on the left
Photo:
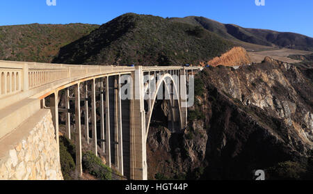
<path fill-rule="evenodd" d="M 0 61 L 0 99 L 76 76 L 134 71 L 134 67 Z"/>

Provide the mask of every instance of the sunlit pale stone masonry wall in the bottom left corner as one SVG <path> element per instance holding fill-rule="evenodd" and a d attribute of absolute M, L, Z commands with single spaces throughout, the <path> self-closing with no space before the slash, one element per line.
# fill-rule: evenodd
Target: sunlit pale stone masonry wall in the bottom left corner
<path fill-rule="evenodd" d="M 0 179 L 63 179 L 60 154 L 49 109 L 31 116 L 0 140 Z"/>

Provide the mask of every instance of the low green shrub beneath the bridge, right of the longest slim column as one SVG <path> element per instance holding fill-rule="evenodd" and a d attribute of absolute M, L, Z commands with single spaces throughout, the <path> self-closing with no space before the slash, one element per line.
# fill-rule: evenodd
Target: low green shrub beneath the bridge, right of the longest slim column
<path fill-rule="evenodd" d="M 102 163 L 93 152 L 83 153 L 83 170 L 101 180 L 111 180 L 113 170 Z"/>

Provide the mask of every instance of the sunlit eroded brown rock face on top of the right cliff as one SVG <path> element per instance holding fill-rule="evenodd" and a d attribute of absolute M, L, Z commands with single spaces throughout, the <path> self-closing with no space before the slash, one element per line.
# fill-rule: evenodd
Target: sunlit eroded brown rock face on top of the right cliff
<path fill-rule="evenodd" d="M 312 82 L 296 67 L 267 57 L 258 67 L 242 67 L 241 70 L 220 67 L 207 78 L 216 88 L 244 105 L 254 105 L 275 118 L 286 119 L 290 127 L 298 130 L 300 138 L 313 145 L 310 106 L 313 91 L 308 87 Z M 302 95 L 303 92 L 306 95 Z"/>

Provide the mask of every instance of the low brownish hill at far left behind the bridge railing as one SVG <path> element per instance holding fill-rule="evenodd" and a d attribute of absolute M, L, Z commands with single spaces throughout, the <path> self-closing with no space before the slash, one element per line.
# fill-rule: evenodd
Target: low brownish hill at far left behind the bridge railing
<path fill-rule="evenodd" d="M 61 47 L 98 27 L 91 24 L 0 26 L 0 60 L 50 63 Z"/>

